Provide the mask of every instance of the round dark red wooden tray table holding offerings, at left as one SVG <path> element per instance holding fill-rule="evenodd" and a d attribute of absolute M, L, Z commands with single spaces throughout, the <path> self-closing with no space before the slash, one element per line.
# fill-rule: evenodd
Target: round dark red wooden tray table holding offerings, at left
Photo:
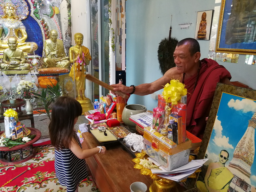
<path fill-rule="evenodd" d="M 20 163 L 28 161 L 29 159 L 31 159 L 32 157 L 34 157 L 36 155 L 36 151 L 34 150 L 32 144 L 40 139 L 41 132 L 38 129 L 34 129 L 31 127 L 27 127 L 27 128 L 31 131 L 30 135 L 36 135 L 36 137 L 33 140 L 28 141 L 24 145 L 17 145 L 12 148 L 0 147 L 0 163 L 1 164 L 4 164 L 4 165 L 20 164 Z M 3 131 L 0 132 L 0 135 L 2 133 L 3 133 Z M 25 158 L 23 158 L 23 150 L 29 151 L 29 155 L 26 156 Z M 12 161 L 12 157 L 11 157 L 12 151 L 20 151 L 20 159 Z M 7 156 L 7 160 L 4 158 L 5 156 Z"/>

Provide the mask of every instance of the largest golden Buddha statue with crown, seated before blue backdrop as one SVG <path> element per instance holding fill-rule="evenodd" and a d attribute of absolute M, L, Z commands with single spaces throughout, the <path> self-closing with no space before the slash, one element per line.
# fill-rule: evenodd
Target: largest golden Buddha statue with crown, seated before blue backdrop
<path fill-rule="evenodd" d="M 11 0 L 5 0 L 3 7 L 4 15 L 0 18 L 0 52 L 9 47 L 7 43 L 9 37 L 17 39 L 18 48 L 22 49 L 23 52 L 36 51 L 37 44 L 35 42 L 25 42 L 28 35 L 25 26 L 16 15 L 15 5 Z"/>

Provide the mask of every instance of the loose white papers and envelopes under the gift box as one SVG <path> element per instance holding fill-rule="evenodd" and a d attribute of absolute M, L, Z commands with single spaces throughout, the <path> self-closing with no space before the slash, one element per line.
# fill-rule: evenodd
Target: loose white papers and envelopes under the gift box
<path fill-rule="evenodd" d="M 162 166 L 156 162 L 155 159 L 148 157 L 154 164 L 159 166 L 161 170 L 151 169 L 152 173 L 158 174 L 159 177 L 163 177 L 166 179 L 181 181 L 183 179 L 188 178 L 191 174 L 193 174 L 198 168 L 200 168 L 208 159 L 199 159 L 192 160 L 179 168 L 173 169 L 172 171 L 166 171 Z"/>

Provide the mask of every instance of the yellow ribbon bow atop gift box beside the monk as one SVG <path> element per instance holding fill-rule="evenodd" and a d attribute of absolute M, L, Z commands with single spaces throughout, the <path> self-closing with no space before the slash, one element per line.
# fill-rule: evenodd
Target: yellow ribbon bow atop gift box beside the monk
<path fill-rule="evenodd" d="M 165 102 L 172 103 L 172 105 L 177 105 L 178 100 L 187 94 L 187 89 L 185 89 L 185 85 L 179 80 L 172 79 L 170 84 L 167 83 L 164 85 L 164 91 L 162 94 Z"/>

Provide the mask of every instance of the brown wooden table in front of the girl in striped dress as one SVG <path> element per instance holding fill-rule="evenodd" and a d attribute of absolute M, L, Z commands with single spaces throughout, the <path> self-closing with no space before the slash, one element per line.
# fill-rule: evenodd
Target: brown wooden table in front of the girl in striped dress
<path fill-rule="evenodd" d="M 83 149 L 99 146 L 92 133 L 82 133 Z M 92 172 L 92 178 L 101 192 L 130 192 L 130 185 L 140 181 L 149 186 L 153 182 L 150 176 L 141 175 L 140 170 L 133 168 L 133 157 L 120 145 L 110 147 L 105 154 L 99 153 L 86 159 Z"/>

